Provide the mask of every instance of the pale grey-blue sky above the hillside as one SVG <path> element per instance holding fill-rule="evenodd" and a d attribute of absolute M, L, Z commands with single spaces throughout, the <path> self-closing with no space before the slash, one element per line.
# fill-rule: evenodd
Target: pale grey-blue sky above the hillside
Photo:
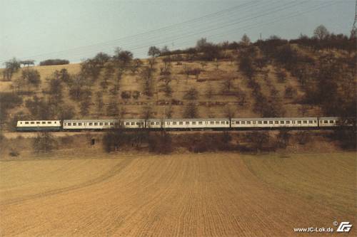
<path fill-rule="evenodd" d="M 355 0 L 71 1 L 0 0 L 0 63 L 16 57 L 79 62 L 114 48 L 146 57 L 149 46 L 194 46 L 196 40 L 252 41 L 311 36 L 323 24 L 351 31 Z M 168 26 L 168 27 L 166 27 Z"/>

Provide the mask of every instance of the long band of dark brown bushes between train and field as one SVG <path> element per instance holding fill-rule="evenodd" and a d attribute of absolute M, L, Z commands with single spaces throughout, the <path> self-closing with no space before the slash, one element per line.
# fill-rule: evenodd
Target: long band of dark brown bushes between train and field
<path fill-rule="evenodd" d="M 314 136 L 326 137 L 331 142 L 337 142 L 342 149 L 356 149 L 356 133 L 351 130 L 335 130 L 333 132 L 281 130 L 278 133 L 268 131 L 233 133 L 229 131 L 216 133 L 183 133 L 171 134 L 165 130 L 149 132 L 141 129 L 136 131 L 111 130 L 102 138 L 106 152 L 123 152 L 140 150 L 158 154 L 169 154 L 176 149 L 186 149 L 188 152 L 273 152 L 286 149 L 289 146 L 305 145 L 313 142 Z M 353 139 L 354 138 L 354 139 Z"/>

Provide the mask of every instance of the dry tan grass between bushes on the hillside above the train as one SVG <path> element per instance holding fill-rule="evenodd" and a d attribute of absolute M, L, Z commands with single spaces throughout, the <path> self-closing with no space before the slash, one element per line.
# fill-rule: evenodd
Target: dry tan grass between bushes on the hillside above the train
<path fill-rule="evenodd" d="M 65 88 L 64 93 L 64 103 L 73 105 L 76 110 L 76 118 L 106 118 L 106 107 L 108 107 L 109 102 L 115 98 L 117 102 L 119 102 L 119 107 L 121 110 L 125 111 L 124 117 L 132 118 L 132 117 L 143 117 L 143 111 L 146 106 L 150 106 L 153 109 L 153 117 L 166 117 L 165 110 L 169 109 L 169 103 L 171 99 L 179 100 L 183 102 L 183 105 L 173 105 L 173 117 L 181 118 L 183 117 L 183 111 L 185 106 L 188 104 L 188 100 L 184 100 L 183 96 L 190 88 L 196 88 L 198 90 L 198 100 L 196 103 L 198 104 L 198 117 L 226 117 L 226 107 L 231 107 L 235 112 L 236 117 L 261 117 L 258 113 L 253 111 L 253 104 L 255 99 L 252 95 L 251 88 L 248 88 L 247 80 L 245 76 L 241 74 L 241 72 L 237 71 L 237 65 L 235 62 L 229 62 L 227 60 L 219 61 L 219 67 L 216 68 L 215 62 L 208 62 L 204 67 L 203 72 L 199 75 L 198 79 L 190 75 L 188 78 L 183 73 L 185 68 L 202 68 L 200 61 L 193 62 L 183 62 L 181 65 L 176 63 L 172 63 L 171 67 L 171 88 L 173 89 L 172 97 L 169 98 L 165 95 L 163 91 L 160 90 L 161 86 L 164 85 L 164 82 L 159 81 L 161 77 L 159 75 L 160 68 L 164 67 L 164 63 L 161 58 L 159 58 L 158 63 L 156 63 L 156 73 L 154 73 L 154 95 L 152 97 L 148 97 L 143 94 L 144 88 L 144 80 L 142 80 L 138 73 L 131 73 L 130 71 L 126 71 L 124 73 L 123 78 L 120 82 L 120 92 L 119 95 L 113 97 L 106 91 L 104 93 L 104 110 L 99 113 L 97 105 L 96 105 L 96 92 L 101 90 L 100 81 L 104 76 L 104 70 L 102 70 L 101 75 L 99 76 L 99 80 L 96 81 L 95 85 L 91 87 L 91 107 L 89 108 L 89 115 L 82 116 L 80 115 L 80 107 L 79 102 L 74 102 L 69 98 L 68 88 Z M 144 60 L 145 65 L 148 64 L 147 60 Z M 69 64 L 69 65 L 49 65 L 49 66 L 35 66 L 34 69 L 39 70 L 41 74 L 41 85 L 38 90 L 36 90 L 35 94 L 39 97 L 42 97 L 44 94 L 42 91 L 47 90 L 49 88 L 49 80 L 46 78 L 51 78 L 52 73 L 55 70 L 61 70 L 61 68 L 66 68 L 69 73 L 79 73 L 80 64 Z M 24 70 L 24 69 L 21 69 Z M 12 80 L 21 76 L 21 70 L 16 73 Z M 269 70 L 268 78 L 270 78 L 273 88 L 276 88 L 278 91 L 278 99 L 283 101 L 283 108 L 286 110 L 287 117 L 301 116 L 300 108 L 301 104 L 296 102 L 296 98 L 298 96 L 303 95 L 303 91 L 301 90 L 299 83 L 296 78 L 288 75 L 288 80 L 284 83 L 278 83 L 276 78 L 276 65 L 267 65 L 265 70 Z M 0 69 L 1 74 L 1 69 Z M 116 75 L 114 75 L 114 78 Z M 258 84 L 261 86 L 262 92 L 264 95 L 269 96 L 269 88 L 266 85 L 266 81 L 263 80 L 263 75 L 258 73 Z M 232 88 L 231 93 L 225 94 L 222 93 L 223 83 L 227 79 L 232 79 Z M 10 88 L 11 82 L 0 81 L 0 91 L 11 91 Z M 109 80 L 109 90 L 114 85 L 114 79 Z M 287 85 L 291 85 L 293 88 L 297 90 L 297 95 L 294 98 L 284 98 L 285 87 Z M 213 88 L 213 97 L 207 98 L 206 91 L 208 87 L 211 86 Z M 141 95 L 138 99 L 122 99 L 120 93 L 122 91 L 139 91 Z M 239 97 L 234 95 L 234 92 L 241 91 L 246 94 L 246 104 L 239 105 L 238 101 Z M 24 96 L 24 100 L 27 98 L 31 98 L 31 96 Z M 211 105 L 208 105 L 208 102 L 211 102 Z M 17 107 L 16 110 L 12 111 L 14 114 L 19 110 L 24 110 L 26 112 L 26 108 L 24 105 L 22 107 Z M 315 116 L 318 115 L 318 107 L 309 107 L 307 112 L 308 115 Z"/>

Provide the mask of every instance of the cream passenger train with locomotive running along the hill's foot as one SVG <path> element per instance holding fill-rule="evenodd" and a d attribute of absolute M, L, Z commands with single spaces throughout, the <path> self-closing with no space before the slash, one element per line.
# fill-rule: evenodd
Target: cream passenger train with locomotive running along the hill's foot
<path fill-rule="evenodd" d="M 263 117 L 195 119 L 124 119 L 124 120 L 24 120 L 18 131 L 81 131 L 146 128 L 152 130 L 251 130 L 279 128 L 328 128 L 341 124 L 338 117 Z"/>

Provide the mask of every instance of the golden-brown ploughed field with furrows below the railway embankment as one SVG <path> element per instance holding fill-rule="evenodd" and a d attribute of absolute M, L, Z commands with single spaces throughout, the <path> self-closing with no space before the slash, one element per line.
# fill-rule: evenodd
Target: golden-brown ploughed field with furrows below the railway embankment
<path fill-rule="evenodd" d="M 355 223 L 355 193 L 355 152 L 2 161 L 0 234 L 296 236 Z"/>

